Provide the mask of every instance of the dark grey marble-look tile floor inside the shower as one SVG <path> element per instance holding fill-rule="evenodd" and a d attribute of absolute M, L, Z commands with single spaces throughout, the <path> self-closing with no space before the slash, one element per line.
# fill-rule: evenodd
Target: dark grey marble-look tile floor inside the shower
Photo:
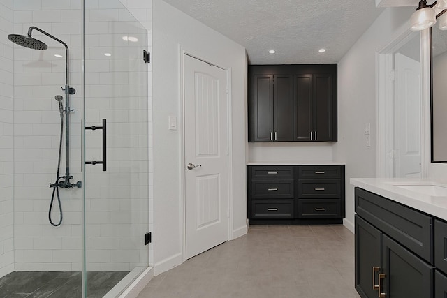
<path fill-rule="evenodd" d="M 103 297 L 127 271 L 88 272 L 87 297 Z M 1 298 L 80 298 L 80 272 L 14 271 L 0 278 Z"/>

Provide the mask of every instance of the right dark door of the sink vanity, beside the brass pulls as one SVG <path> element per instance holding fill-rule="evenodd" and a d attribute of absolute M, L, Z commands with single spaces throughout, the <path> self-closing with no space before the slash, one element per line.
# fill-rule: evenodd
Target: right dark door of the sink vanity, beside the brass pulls
<path fill-rule="evenodd" d="M 434 267 L 383 234 L 381 292 L 387 298 L 433 297 Z"/>

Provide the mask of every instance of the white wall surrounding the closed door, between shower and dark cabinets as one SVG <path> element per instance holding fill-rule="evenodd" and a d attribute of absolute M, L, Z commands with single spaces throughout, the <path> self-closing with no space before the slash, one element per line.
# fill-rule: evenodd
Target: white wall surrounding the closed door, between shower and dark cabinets
<path fill-rule="evenodd" d="M 244 47 L 169 6 L 153 1 L 154 262 L 159 274 L 182 262 L 180 131 L 168 131 L 168 116 L 181 126 L 179 45 L 191 54 L 231 68 L 233 105 L 233 232 L 246 232 L 247 58 Z"/>

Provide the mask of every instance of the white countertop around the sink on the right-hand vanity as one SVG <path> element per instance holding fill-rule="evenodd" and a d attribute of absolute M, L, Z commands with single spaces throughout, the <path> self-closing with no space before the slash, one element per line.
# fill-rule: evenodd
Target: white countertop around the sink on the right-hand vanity
<path fill-rule="evenodd" d="M 447 195 L 430 195 L 403 188 L 411 185 L 442 186 L 447 188 L 445 181 L 417 178 L 351 178 L 350 182 L 353 186 L 363 188 L 365 191 L 376 193 L 447 221 Z"/>

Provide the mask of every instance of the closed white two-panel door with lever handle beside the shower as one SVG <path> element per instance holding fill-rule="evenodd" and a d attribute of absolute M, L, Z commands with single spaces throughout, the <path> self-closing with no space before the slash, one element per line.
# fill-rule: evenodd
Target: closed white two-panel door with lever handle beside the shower
<path fill-rule="evenodd" d="M 186 258 L 191 258 L 228 241 L 228 99 L 226 70 L 186 54 L 184 137 Z"/>

